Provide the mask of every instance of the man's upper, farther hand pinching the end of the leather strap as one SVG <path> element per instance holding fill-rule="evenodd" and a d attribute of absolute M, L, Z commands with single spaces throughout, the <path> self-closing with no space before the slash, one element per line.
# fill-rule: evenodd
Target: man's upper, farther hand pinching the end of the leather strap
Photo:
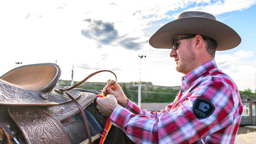
<path fill-rule="evenodd" d="M 117 98 L 117 103 L 119 105 L 121 105 L 122 107 L 126 107 L 126 105 L 128 104 L 128 98 L 123 93 L 123 90 L 120 87 L 120 85 L 118 83 L 115 83 L 114 85 L 112 85 L 113 83 L 114 83 L 114 80 L 107 82 L 107 85 L 102 90 L 102 94 L 103 95 L 108 95 L 108 94 L 114 95 L 114 97 Z"/>

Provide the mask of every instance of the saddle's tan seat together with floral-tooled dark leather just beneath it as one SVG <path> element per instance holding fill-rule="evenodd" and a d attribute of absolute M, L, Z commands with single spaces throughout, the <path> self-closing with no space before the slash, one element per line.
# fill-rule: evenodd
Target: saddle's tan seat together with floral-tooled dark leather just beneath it
<path fill-rule="evenodd" d="M 0 105 L 59 105 L 72 100 L 56 86 L 61 75 L 57 64 L 19 66 L 0 77 Z M 79 91 L 67 91 L 78 99 Z"/>

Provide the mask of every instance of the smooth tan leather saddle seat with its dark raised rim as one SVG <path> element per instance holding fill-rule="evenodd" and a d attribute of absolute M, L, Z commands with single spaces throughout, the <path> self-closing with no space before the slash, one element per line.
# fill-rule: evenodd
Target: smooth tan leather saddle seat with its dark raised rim
<path fill-rule="evenodd" d="M 60 74 L 59 66 L 55 64 L 32 64 L 12 69 L 0 79 L 27 91 L 50 91 L 56 85 Z"/>

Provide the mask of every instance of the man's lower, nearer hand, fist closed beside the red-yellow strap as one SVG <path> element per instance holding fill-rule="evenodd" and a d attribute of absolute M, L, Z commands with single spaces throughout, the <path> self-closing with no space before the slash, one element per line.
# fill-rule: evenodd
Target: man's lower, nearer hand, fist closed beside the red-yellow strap
<path fill-rule="evenodd" d="M 117 99 L 109 94 L 105 98 L 97 98 L 97 109 L 101 115 L 110 117 L 114 109 L 118 106 Z"/>

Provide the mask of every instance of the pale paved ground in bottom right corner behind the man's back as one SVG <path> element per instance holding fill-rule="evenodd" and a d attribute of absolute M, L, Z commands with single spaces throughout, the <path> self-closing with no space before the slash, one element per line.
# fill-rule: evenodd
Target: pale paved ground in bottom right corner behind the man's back
<path fill-rule="evenodd" d="M 237 135 L 236 143 L 237 144 L 256 144 L 256 132 Z"/>

